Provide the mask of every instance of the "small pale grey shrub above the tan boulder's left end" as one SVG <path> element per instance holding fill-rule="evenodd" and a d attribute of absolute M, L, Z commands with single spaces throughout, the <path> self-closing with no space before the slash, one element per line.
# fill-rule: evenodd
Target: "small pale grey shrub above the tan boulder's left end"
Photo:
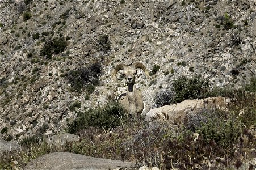
<path fill-rule="evenodd" d="M 174 97 L 174 92 L 169 89 L 160 89 L 154 96 L 154 107 L 162 107 L 168 105 Z"/>

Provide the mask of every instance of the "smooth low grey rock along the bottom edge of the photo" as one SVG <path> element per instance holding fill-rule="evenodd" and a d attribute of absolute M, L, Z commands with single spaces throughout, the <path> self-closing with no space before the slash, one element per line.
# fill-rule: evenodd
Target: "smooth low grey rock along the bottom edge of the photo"
<path fill-rule="evenodd" d="M 29 169 L 114 169 L 118 167 L 131 168 L 131 162 L 93 158 L 91 156 L 73 154 L 68 152 L 56 152 L 46 154 L 32 160 L 24 170 Z"/>

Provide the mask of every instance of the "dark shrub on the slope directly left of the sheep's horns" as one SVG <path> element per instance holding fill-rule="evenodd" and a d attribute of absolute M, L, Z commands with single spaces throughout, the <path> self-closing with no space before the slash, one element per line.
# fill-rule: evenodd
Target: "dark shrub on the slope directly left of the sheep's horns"
<path fill-rule="evenodd" d="M 95 86 L 100 82 L 101 69 L 102 66 L 97 62 L 87 67 L 80 67 L 77 70 L 70 70 L 66 77 L 73 91 L 81 91 L 82 88 L 87 87 L 88 92 L 92 93 L 95 90 Z"/>

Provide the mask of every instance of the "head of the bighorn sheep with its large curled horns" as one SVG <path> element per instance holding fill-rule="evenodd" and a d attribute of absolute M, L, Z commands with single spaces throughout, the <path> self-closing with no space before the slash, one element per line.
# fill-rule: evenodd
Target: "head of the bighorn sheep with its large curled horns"
<path fill-rule="evenodd" d="M 119 70 L 123 70 L 123 76 L 127 84 L 133 84 L 135 82 L 135 75 L 137 74 L 137 69 L 141 69 L 145 72 L 146 76 L 149 78 L 149 73 L 146 67 L 140 63 L 135 62 L 131 66 L 119 64 L 115 67 L 114 72 L 112 73 L 112 78 L 114 78 Z"/>

